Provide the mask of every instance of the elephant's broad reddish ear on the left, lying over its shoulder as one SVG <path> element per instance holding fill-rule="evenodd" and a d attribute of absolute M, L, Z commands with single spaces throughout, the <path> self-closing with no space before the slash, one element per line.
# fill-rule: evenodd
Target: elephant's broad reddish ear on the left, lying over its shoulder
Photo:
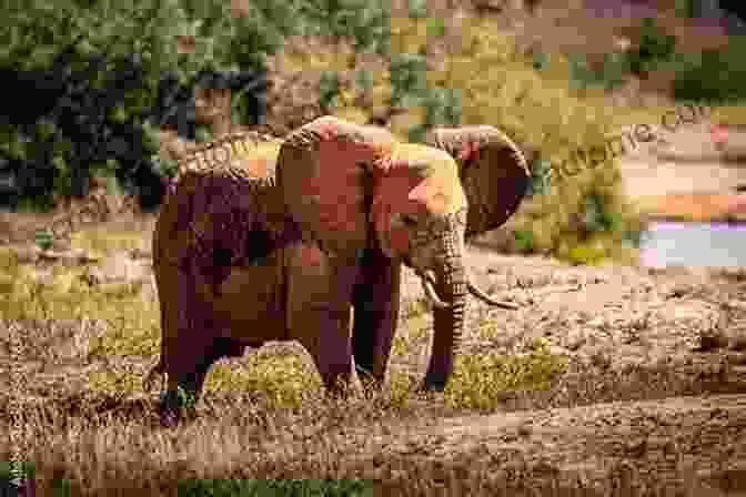
<path fill-rule="evenodd" d="M 331 115 L 285 138 L 278 158 L 278 187 L 305 237 L 347 256 L 367 245 L 374 173 L 386 166 L 394 144 L 382 128 Z"/>

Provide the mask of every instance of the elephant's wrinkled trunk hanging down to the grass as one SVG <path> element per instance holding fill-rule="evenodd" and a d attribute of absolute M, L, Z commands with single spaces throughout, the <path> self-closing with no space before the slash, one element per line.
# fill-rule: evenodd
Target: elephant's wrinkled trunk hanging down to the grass
<path fill-rule="evenodd" d="M 434 339 L 424 387 L 442 392 L 453 372 L 454 357 L 461 345 L 464 317 L 468 303 L 468 277 L 464 265 L 464 244 L 455 233 L 450 233 L 443 257 L 433 268 L 435 288 L 444 306 L 433 308 Z M 427 280 L 423 285 L 427 286 Z"/>

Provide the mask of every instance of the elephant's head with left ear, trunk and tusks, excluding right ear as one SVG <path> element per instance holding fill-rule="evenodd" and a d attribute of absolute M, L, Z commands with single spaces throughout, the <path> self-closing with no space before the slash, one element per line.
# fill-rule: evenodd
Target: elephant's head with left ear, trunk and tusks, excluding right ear
<path fill-rule="evenodd" d="M 464 236 L 470 199 L 461 180 L 464 168 L 447 151 L 400 143 L 384 129 L 322 116 L 286 136 L 278 159 L 278 186 L 304 242 L 317 244 L 341 265 L 360 264 L 362 252 L 379 248 L 420 276 L 435 306 L 435 342 L 425 377 L 425 387 L 435 390 L 452 372 L 470 291 L 514 308 L 490 300 L 468 280 Z M 474 162 L 477 156 L 464 159 Z M 507 207 L 515 206 L 512 194 Z M 510 215 L 506 205 L 501 209 L 498 223 Z M 481 223 L 476 230 L 494 224 L 475 220 Z"/>

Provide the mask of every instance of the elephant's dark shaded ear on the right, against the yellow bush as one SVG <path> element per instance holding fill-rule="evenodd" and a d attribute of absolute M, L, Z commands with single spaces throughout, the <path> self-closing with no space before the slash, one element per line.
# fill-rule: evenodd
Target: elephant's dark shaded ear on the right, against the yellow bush
<path fill-rule="evenodd" d="M 436 128 L 426 139 L 456 160 L 466 200 L 466 239 L 500 227 L 528 191 L 531 170 L 518 148 L 494 126 Z"/>

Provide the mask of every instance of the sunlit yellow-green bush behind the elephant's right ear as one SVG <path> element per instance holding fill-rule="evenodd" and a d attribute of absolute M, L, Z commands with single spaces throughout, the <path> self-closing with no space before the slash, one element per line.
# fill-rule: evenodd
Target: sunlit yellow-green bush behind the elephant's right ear
<path fill-rule="evenodd" d="M 422 24 L 423 21 L 399 19 L 392 43 L 402 45 L 407 53 L 422 53 L 433 43 Z M 548 161 L 532 164 L 532 190 L 543 194 L 524 200 L 508 221 L 516 248 L 571 258 L 573 247 L 589 244 L 601 258 L 621 256 L 623 234 L 637 224 L 638 215 L 625 202 L 617 164 L 611 161 L 599 168 L 586 168 L 572 178 L 553 176 L 551 189 L 546 187 L 550 174 L 542 169 L 561 163 L 574 150 L 604 142 L 623 120 L 623 110 L 609 108 L 597 93 L 578 94 L 567 83 L 563 88 L 563 81 L 573 79 L 572 60 L 553 57 L 552 63 L 537 72 L 534 60 L 520 52 L 515 40 L 501 33 L 494 20 L 472 18 L 465 21 L 460 37 L 461 47 L 451 51 L 441 68 L 427 72 L 427 87 L 464 95 L 461 123 L 494 125 L 517 144 L 541 150 L 541 161 Z M 613 63 L 624 67 L 618 60 L 612 59 L 609 67 Z M 596 74 L 589 73 L 587 80 L 591 77 L 597 80 Z M 586 215 L 586 211 L 597 206 L 586 205 L 586 199 L 594 194 L 603 204 L 601 214 Z M 588 241 L 578 233 L 585 230 L 584 217 L 591 230 L 599 230 L 589 233 Z"/>

